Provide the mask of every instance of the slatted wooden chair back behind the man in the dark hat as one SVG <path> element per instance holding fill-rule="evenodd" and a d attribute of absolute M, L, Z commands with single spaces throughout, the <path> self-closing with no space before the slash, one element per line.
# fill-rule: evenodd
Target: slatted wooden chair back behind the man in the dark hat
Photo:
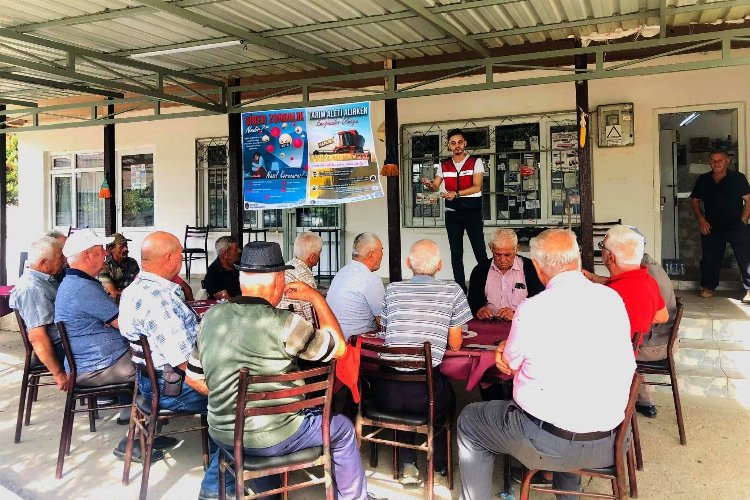
<path fill-rule="evenodd" d="M 250 375 L 247 367 L 240 368 L 237 389 L 237 408 L 234 422 L 234 459 L 243 462 L 245 417 L 296 413 L 306 408 L 323 407 L 323 450 L 330 453 L 330 421 L 333 402 L 333 382 L 336 375 L 336 360 L 330 364 L 279 375 Z M 317 377 L 317 380 L 316 380 Z M 321 377 L 325 377 L 320 380 Z M 259 384 L 286 382 L 293 387 L 279 390 L 253 390 Z M 294 398 L 294 401 L 287 401 Z M 255 406 L 254 403 L 261 403 Z M 252 406 L 249 406 L 252 405 Z"/>

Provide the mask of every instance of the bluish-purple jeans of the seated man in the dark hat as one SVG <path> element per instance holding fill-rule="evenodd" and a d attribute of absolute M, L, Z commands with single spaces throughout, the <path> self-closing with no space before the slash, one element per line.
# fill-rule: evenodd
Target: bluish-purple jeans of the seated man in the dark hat
<path fill-rule="evenodd" d="M 247 455 L 272 457 L 288 455 L 289 453 L 305 448 L 322 446 L 323 434 L 320 430 L 322 421 L 322 411 L 306 410 L 304 412 L 302 425 L 300 425 L 300 428 L 287 439 L 268 448 L 245 448 L 245 453 Z M 367 480 L 365 479 L 365 471 L 362 467 L 359 449 L 357 448 L 357 436 L 354 432 L 354 426 L 345 416 L 334 415 L 333 418 L 331 418 L 330 433 L 331 456 L 333 462 L 331 474 L 333 476 L 336 498 L 340 500 L 366 500 Z M 219 445 L 230 452 L 233 449 L 231 445 L 226 445 L 224 443 L 219 443 Z M 211 456 L 211 464 L 209 465 L 208 471 L 206 471 L 206 476 L 208 476 L 211 469 L 216 469 L 218 471 L 218 467 L 219 452 L 217 450 Z M 227 474 L 226 478 L 227 491 L 231 491 L 234 488 L 234 478 L 231 474 Z M 256 492 L 267 491 L 272 489 L 272 487 L 278 487 L 280 484 L 278 482 L 278 476 L 260 479 L 264 479 L 265 481 L 256 479 L 255 485 L 251 486 Z M 201 489 L 206 487 L 205 481 L 206 480 L 204 479 Z"/>

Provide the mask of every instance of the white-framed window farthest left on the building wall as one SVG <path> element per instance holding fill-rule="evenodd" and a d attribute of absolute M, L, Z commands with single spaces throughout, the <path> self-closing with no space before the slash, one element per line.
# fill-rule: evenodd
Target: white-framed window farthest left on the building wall
<path fill-rule="evenodd" d="M 103 228 L 104 153 L 52 155 L 50 163 L 52 225 Z"/>

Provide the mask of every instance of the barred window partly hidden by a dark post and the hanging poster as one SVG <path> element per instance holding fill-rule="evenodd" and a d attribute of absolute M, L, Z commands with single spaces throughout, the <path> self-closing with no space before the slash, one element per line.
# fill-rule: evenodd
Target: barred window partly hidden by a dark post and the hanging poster
<path fill-rule="evenodd" d="M 229 230 L 229 139 L 214 137 L 195 142 L 198 225 Z M 280 228 L 281 210 L 245 210 L 244 227 Z"/>

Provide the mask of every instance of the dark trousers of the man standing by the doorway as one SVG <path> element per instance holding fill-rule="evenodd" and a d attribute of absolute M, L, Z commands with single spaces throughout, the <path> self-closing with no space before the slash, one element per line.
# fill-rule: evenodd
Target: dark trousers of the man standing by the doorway
<path fill-rule="evenodd" d="M 727 243 L 732 245 L 734 257 L 742 275 L 742 286 L 750 291 L 750 227 L 745 224 L 726 231 L 714 231 L 701 235 L 701 286 L 715 290 L 719 286 L 721 261 Z"/>

